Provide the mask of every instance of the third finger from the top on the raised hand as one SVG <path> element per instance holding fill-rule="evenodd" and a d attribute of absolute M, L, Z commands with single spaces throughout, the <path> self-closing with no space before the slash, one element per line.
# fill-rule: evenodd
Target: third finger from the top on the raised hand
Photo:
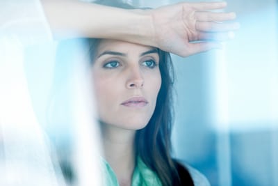
<path fill-rule="evenodd" d="M 239 29 L 238 22 L 196 22 L 195 29 L 197 31 L 215 32 L 215 31 L 234 31 Z"/>

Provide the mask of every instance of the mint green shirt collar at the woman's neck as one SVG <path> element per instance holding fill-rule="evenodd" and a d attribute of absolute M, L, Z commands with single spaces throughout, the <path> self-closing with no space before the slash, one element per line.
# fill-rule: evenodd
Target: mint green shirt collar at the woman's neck
<path fill-rule="evenodd" d="M 107 186 L 119 186 L 117 181 L 117 177 L 111 168 L 111 166 L 103 160 L 103 170 L 102 173 L 104 175 L 104 183 Z M 159 180 L 158 176 L 154 171 L 149 169 L 147 165 L 142 162 L 140 158 L 138 158 L 137 166 L 134 169 L 131 186 L 161 186 L 161 180 Z"/>

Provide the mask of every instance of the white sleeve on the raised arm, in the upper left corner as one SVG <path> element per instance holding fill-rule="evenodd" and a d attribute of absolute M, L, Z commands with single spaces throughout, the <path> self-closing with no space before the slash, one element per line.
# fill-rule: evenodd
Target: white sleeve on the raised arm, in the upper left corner
<path fill-rule="evenodd" d="M 52 40 L 39 0 L 0 1 L 0 38 L 16 38 L 22 45 Z"/>

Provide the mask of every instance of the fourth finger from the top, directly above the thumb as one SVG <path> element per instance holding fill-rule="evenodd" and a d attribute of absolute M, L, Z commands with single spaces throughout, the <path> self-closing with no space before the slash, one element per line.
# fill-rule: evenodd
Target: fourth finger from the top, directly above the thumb
<path fill-rule="evenodd" d="M 227 32 L 199 32 L 197 40 L 215 40 L 224 41 L 231 40 L 235 38 L 235 33 L 233 31 Z"/>

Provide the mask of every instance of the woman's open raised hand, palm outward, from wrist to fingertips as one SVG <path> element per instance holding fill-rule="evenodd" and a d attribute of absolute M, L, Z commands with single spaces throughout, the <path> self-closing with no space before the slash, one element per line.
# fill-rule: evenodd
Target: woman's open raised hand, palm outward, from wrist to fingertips
<path fill-rule="evenodd" d="M 225 2 L 177 3 L 149 10 L 152 14 L 154 42 L 157 47 L 177 54 L 190 56 L 220 48 L 220 40 L 231 37 L 238 29 L 235 13 L 213 13 L 222 9 Z"/>

